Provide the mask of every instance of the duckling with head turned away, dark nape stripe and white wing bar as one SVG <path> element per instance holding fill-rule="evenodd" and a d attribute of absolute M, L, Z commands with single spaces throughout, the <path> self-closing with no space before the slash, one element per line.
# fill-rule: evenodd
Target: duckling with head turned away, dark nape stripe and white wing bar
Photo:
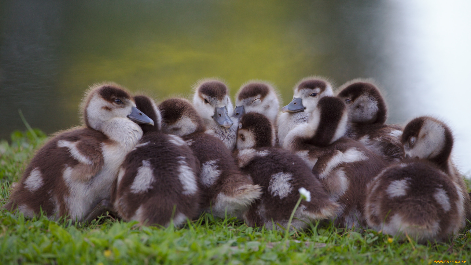
<path fill-rule="evenodd" d="M 348 114 L 343 101 L 323 97 L 307 123 L 296 126 L 285 138 L 289 149 L 312 168 L 331 199 L 340 204 L 334 223 L 364 227 L 366 185 L 387 162 L 360 142 L 346 137 Z"/>

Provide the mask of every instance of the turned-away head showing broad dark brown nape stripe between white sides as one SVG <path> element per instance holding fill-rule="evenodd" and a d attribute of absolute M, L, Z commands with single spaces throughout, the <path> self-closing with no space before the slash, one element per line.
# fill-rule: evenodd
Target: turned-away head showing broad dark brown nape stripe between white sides
<path fill-rule="evenodd" d="M 345 134 L 347 121 L 347 107 L 343 101 L 335 97 L 323 97 L 309 118 L 309 123 L 316 129 L 314 136 L 307 142 L 316 146 L 332 144 Z"/>

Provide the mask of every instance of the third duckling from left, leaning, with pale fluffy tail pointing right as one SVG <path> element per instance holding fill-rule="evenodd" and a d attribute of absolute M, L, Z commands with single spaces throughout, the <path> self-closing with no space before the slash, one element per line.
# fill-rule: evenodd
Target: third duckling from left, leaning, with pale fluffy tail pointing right
<path fill-rule="evenodd" d="M 203 121 L 190 102 L 167 99 L 159 109 L 162 131 L 182 137 L 199 160 L 201 209 L 218 217 L 227 213 L 240 218 L 260 197 L 260 187 L 242 174 L 224 142 L 204 132 Z"/>

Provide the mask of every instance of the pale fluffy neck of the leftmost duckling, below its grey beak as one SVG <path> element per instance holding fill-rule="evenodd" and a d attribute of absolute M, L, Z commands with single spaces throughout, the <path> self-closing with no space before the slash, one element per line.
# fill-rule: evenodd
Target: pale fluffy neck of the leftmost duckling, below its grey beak
<path fill-rule="evenodd" d="M 126 150 L 133 149 L 143 135 L 141 127 L 128 118 L 112 118 L 101 124 L 98 131 Z"/>

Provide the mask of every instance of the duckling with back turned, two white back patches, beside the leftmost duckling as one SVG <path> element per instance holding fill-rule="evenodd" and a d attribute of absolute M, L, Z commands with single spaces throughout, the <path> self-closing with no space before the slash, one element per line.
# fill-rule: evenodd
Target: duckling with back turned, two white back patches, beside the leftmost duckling
<path fill-rule="evenodd" d="M 161 114 L 152 99 L 134 97 L 155 125 L 141 125 L 144 136 L 121 165 L 114 208 L 125 221 L 179 226 L 199 215 L 198 160 L 185 141 L 161 132 Z"/>

